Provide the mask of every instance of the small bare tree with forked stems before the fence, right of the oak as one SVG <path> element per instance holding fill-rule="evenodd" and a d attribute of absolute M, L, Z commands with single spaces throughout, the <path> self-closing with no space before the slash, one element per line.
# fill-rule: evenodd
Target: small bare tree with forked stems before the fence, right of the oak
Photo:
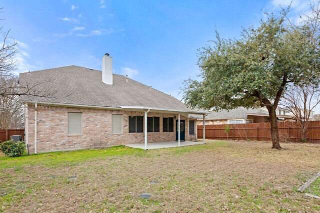
<path fill-rule="evenodd" d="M 279 105 L 289 110 L 297 119 L 302 141 L 306 141 L 312 111 L 319 103 L 320 88 L 311 86 L 308 82 L 303 85 L 290 84 L 281 98 Z"/>

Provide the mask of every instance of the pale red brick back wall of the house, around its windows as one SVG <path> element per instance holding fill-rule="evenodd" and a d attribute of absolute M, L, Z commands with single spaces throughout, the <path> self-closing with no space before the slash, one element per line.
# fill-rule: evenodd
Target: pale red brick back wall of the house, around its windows
<path fill-rule="evenodd" d="M 82 112 L 82 135 L 68 136 L 67 112 Z M 122 134 L 112 134 L 112 114 L 122 114 Z M 28 120 L 25 122 L 26 140 L 29 152 L 34 153 L 34 106 L 28 106 L 26 115 Z M 130 115 L 143 116 L 144 112 L 38 105 L 37 153 L 144 143 L 144 133 L 128 133 Z M 162 132 L 162 117 L 177 117 L 176 114 L 149 112 L 148 116 L 160 117 L 160 132 L 148 133 L 148 143 L 175 140 L 175 121 L 173 132 Z M 188 118 L 181 116 L 180 119 L 185 120 L 185 139 L 196 140 L 196 135 L 188 135 Z"/>

